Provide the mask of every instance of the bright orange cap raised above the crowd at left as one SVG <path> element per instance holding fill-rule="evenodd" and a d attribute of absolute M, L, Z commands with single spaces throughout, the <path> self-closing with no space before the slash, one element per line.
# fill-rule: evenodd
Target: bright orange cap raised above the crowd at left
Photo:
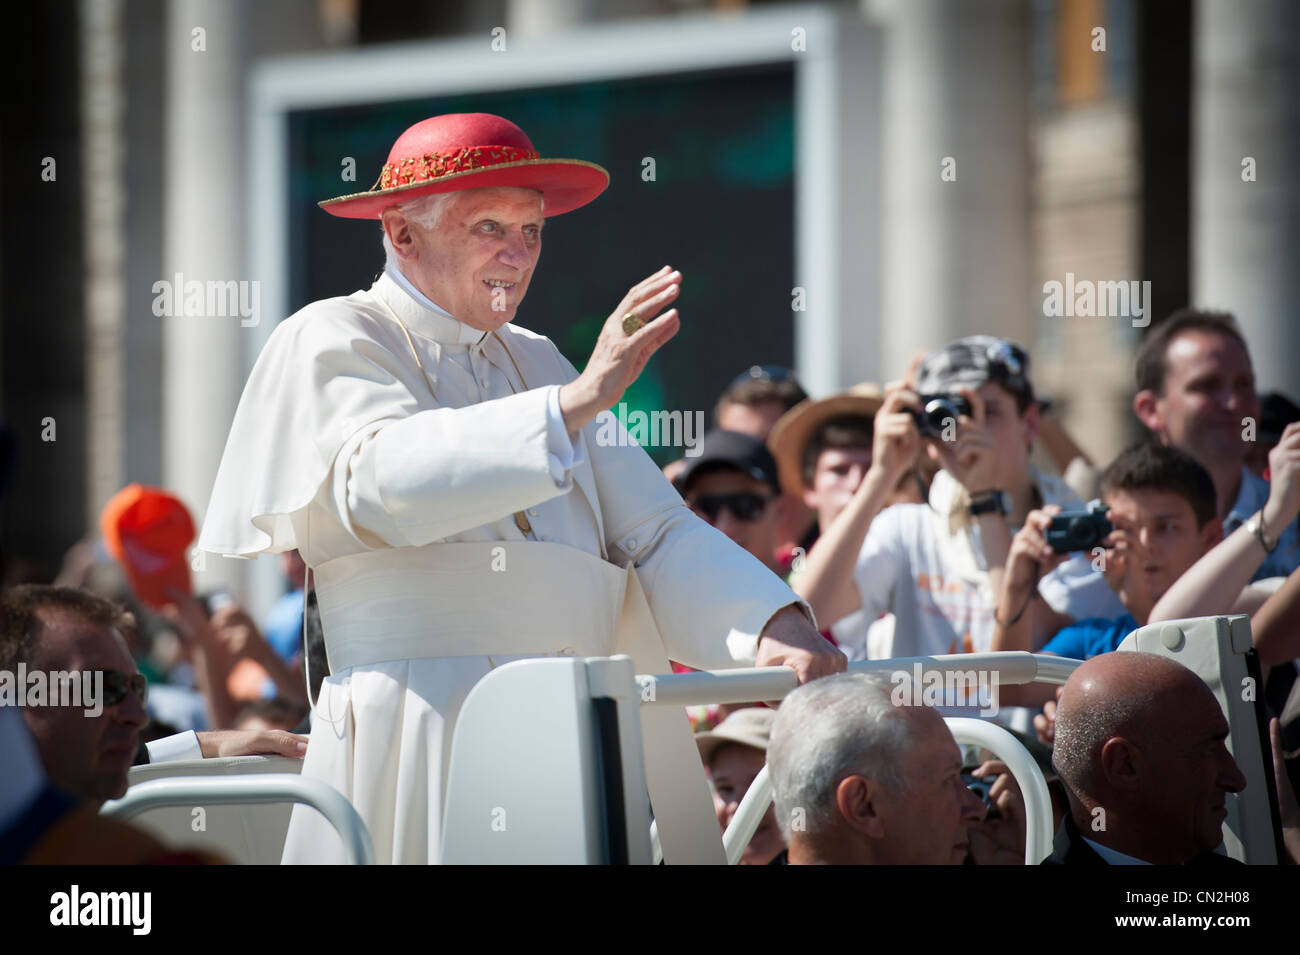
<path fill-rule="evenodd" d="M 99 526 L 108 552 L 147 607 L 174 603 L 168 587 L 194 592 L 185 554 L 194 541 L 194 520 L 178 498 L 157 487 L 127 485 L 104 505 Z"/>

